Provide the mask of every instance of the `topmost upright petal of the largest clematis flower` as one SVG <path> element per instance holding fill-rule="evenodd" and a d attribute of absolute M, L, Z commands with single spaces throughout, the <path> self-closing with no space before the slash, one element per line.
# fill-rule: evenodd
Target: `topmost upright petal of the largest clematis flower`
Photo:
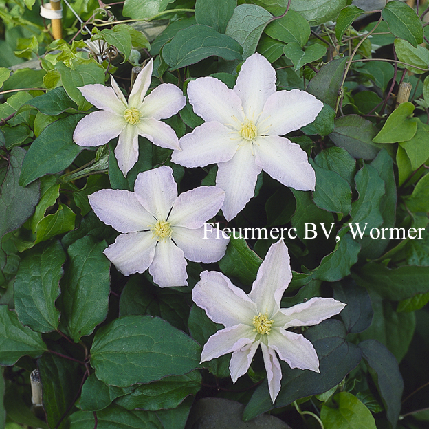
<path fill-rule="evenodd" d="M 234 91 L 249 120 L 258 119 L 267 98 L 276 92 L 276 71 L 261 54 L 253 54 L 241 66 Z"/>

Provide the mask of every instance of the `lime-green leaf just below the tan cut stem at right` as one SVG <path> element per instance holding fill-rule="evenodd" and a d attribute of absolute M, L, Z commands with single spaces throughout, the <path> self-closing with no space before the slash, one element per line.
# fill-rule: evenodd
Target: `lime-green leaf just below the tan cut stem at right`
<path fill-rule="evenodd" d="M 380 133 L 373 138 L 373 142 L 396 143 L 411 140 L 417 131 L 417 121 L 410 118 L 414 109 L 414 104 L 410 102 L 399 104 L 387 118 Z"/>

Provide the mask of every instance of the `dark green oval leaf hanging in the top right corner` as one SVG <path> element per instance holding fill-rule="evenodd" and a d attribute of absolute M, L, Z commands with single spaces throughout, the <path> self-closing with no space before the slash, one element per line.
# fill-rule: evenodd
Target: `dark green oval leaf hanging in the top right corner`
<path fill-rule="evenodd" d="M 382 10 L 382 17 L 388 23 L 391 33 L 411 43 L 417 45 L 423 43 L 423 25 L 419 15 L 406 3 L 401 1 L 390 1 Z"/>

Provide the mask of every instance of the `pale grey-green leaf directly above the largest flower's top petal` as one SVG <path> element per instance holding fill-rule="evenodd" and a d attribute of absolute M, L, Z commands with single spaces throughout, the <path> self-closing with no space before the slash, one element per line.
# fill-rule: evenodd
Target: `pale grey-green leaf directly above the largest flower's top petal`
<path fill-rule="evenodd" d="M 272 14 L 261 6 L 242 4 L 234 9 L 225 34 L 243 47 L 243 59 L 254 54 L 261 34 L 271 19 Z"/>

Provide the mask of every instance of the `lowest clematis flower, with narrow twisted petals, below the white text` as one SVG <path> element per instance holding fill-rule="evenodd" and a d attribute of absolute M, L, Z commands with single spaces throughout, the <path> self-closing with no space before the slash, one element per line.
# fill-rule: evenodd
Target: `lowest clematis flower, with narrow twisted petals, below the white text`
<path fill-rule="evenodd" d="M 282 377 L 277 355 L 291 368 L 319 372 L 313 344 L 286 329 L 317 325 L 340 313 L 345 306 L 333 298 L 311 298 L 294 307 L 280 308 L 281 298 L 291 280 L 287 247 L 283 241 L 278 241 L 270 247 L 259 267 L 250 294 L 246 295 L 220 272 L 202 272 L 201 280 L 192 289 L 192 300 L 213 322 L 225 327 L 208 339 L 201 362 L 232 352 L 230 373 L 235 383 L 248 371 L 261 345 L 273 404 Z"/>

